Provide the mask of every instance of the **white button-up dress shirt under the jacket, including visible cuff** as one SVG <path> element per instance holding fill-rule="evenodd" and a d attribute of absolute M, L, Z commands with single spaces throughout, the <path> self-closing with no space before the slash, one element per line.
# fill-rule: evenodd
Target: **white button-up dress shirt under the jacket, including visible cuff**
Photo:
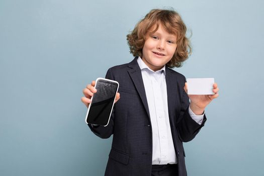
<path fill-rule="evenodd" d="M 153 71 L 140 57 L 137 62 L 142 73 L 152 127 L 152 165 L 175 164 L 177 156 L 168 117 L 165 65 Z M 195 115 L 190 107 L 189 114 L 198 124 L 202 123 L 204 114 Z"/>

